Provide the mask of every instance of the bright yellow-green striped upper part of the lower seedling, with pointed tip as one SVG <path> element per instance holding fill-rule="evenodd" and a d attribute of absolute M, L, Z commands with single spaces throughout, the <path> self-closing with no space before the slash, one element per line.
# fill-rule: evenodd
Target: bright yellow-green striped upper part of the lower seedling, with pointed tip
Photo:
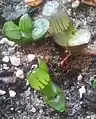
<path fill-rule="evenodd" d="M 48 67 L 42 59 L 38 59 L 39 66 L 29 74 L 28 81 L 30 85 L 36 89 L 44 89 L 50 81 Z"/>

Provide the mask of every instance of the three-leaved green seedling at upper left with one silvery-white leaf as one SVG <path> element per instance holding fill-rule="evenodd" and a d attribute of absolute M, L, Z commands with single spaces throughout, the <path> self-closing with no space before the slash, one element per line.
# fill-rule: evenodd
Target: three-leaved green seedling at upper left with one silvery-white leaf
<path fill-rule="evenodd" d="M 33 21 L 28 14 L 24 14 L 19 25 L 13 21 L 8 21 L 3 26 L 3 33 L 9 40 L 16 43 L 32 43 L 44 39 L 49 29 L 49 21 L 37 19 Z"/>

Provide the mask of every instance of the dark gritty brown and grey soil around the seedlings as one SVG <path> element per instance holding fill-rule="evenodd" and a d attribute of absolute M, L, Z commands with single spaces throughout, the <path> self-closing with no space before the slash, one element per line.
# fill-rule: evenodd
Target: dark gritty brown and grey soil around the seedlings
<path fill-rule="evenodd" d="M 92 34 L 90 45 L 95 45 L 96 8 L 80 5 L 79 8 L 72 9 L 68 2 L 64 3 L 64 6 L 76 27 L 90 29 Z M 0 1 L 0 28 L 5 21 L 17 20 L 26 12 L 26 7 L 21 0 Z M 0 34 L 2 39 L 4 36 L 1 32 Z M 14 50 L 6 44 L 0 45 L 0 90 L 6 91 L 5 95 L 0 96 L 0 119 L 96 119 L 96 89 L 91 86 L 91 77 L 96 75 L 96 57 L 74 54 L 68 63 L 61 67 L 59 62 L 63 58 L 64 51 L 65 49 L 55 44 L 52 38 L 46 38 L 37 44 L 17 45 Z M 44 104 L 39 92 L 27 85 L 25 79 L 15 77 L 16 67 L 10 62 L 7 63 L 9 69 L 4 69 L 2 58 L 6 54 L 11 56 L 17 53 L 21 58 L 18 68 L 22 68 L 25 75 L 30 71 L 30 67 L 36 64 L 35 61 L 25 62 L 28 54 L 35 54 L 36 57 L 43 57 L 46 60 L 53 81 L 62 88 L 66 96 L 67 114 L 58 113 Z M 78 80 L 80 74 L 82 79 Z M 4 82 L 6 77 L 10 78 L 7 83 Z M 79 89 L 82 85 L 87 92 L 80 99 Z M 10 89 L 16 92 L 15 97 L 9 96 Z"/>

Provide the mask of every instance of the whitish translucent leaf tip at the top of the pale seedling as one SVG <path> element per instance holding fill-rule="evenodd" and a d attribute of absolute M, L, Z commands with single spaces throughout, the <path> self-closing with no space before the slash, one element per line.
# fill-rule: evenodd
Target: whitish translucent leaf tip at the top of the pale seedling
<path fill-rule="evenodd" d="M 42 14 L 45 16 L 51 16 L 53 13 L 57 12 L 58 6 L 59 3 L 57 1 L 49 1 L 45 4 Z"/>

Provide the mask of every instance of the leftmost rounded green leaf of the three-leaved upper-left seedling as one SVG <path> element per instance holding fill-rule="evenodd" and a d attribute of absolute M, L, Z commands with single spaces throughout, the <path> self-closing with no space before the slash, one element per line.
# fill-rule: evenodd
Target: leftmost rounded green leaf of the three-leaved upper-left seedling
<path fill-rule="evenodd" d="M 21 39 L 19 27 L 16 24 L 14 24 L 13 21 L 8 21 L 4 24 L 3 32 L 8 38 L 10 38 L 13 41 Z"/>

